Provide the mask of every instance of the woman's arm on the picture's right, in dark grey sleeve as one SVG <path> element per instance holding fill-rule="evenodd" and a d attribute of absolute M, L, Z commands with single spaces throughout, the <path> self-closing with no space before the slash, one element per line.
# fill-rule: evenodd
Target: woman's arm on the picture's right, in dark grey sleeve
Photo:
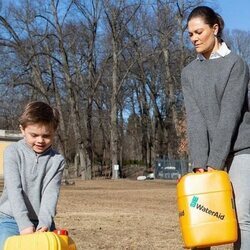
<path fill-rule="evenodd" d="M 210 145 L 208 166 L 223 169 L 232 140 L 242 119 L 249 80 L 248 66 L 242 59 L 233 65 L 221 100 L 220 117 Z"/>

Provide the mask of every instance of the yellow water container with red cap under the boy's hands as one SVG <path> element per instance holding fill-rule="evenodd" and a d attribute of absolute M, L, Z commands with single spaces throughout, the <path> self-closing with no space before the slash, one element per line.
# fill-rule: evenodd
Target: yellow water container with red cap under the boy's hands
<path fill-rule="evenodd" d="M 9 237 L 4 250 L 76 250 L 67 230 L 37 232 Z"/>

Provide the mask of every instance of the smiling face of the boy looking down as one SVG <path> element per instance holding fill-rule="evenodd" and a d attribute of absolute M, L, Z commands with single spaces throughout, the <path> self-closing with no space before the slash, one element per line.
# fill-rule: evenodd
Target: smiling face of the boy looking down
<path fill-rule="evenodd" d="M 46 151 L 53 143 L 55 130 L 48 124 L 29 124 L 25 128 L 20 125 L 26 143 L 38 154 Z"/>

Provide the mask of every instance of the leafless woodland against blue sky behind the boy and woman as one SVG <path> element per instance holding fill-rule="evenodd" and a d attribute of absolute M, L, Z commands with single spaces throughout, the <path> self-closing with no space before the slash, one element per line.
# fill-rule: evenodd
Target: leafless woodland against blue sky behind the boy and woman
<path fill-rule="evenodd" d="M 214 3 L 216 1 L 209 1 Z M 24 105 L 57 106 L 67 168 L 91 179 L 187 159 L 182 68 L 195 58 L 186 18 L 206 1 L 19 0 L 0 11 L 0 128 Z M 250 33 L 226 30 L 250 64 Z M 123 175 L 121 175 L 123 176 Z M 123 176 L 125 177 L 125 176 Z"/>

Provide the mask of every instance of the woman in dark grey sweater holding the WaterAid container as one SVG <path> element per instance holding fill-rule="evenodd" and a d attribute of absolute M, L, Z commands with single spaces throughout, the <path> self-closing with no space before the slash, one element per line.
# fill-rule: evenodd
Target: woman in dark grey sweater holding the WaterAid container
<path fill-rule="evenodd" d="M 227 167 L 240 228 L 234 249 L 249 250 L 249 69 L 223 42 L 223 19 L 211 8 L 195 8 L 187 22 L 197 52 L 197 58 L 182 71 L 190 159 L 195 172 Z"/>

